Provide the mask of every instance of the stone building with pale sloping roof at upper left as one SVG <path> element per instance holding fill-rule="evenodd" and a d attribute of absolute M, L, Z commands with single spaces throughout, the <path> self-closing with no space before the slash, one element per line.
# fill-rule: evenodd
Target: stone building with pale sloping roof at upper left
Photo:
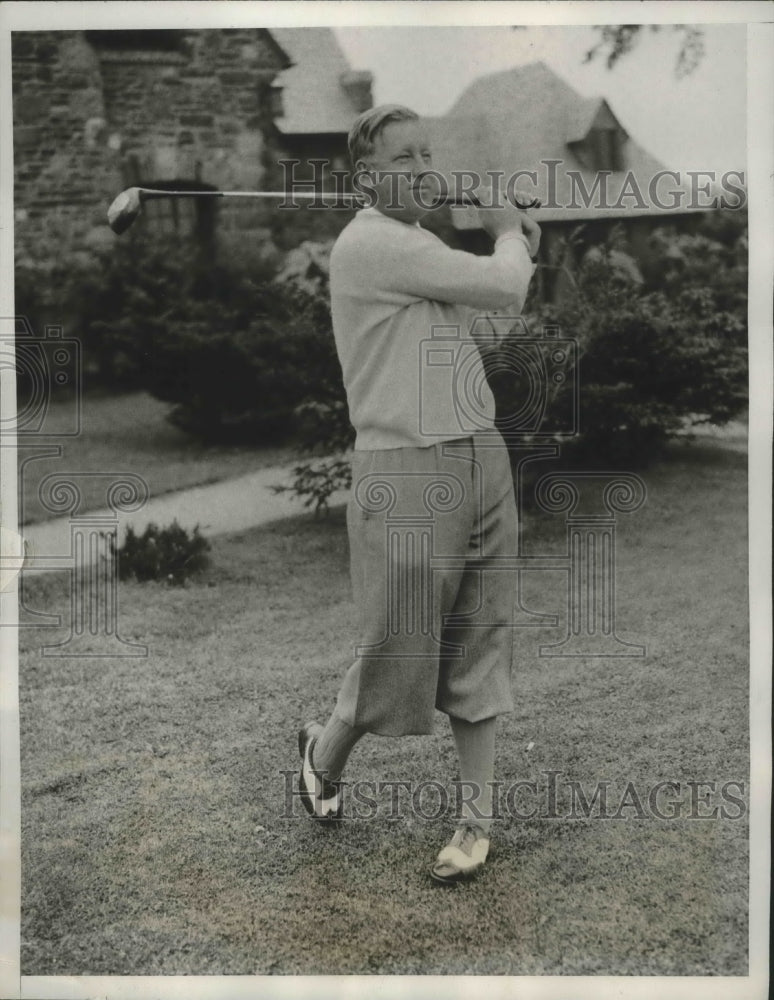
<path fill-rule="evenodd" d="M 20 263 L 108 249 L 107 206 L 130 186 L 265 190 L 283 157 L 345 166 L 371 106 L 328 28 L 15 32 L 12 57 Z M 260 202 L 165 199 L 138 225 L 211 252 L 260 246 L 275 222 Z"/>

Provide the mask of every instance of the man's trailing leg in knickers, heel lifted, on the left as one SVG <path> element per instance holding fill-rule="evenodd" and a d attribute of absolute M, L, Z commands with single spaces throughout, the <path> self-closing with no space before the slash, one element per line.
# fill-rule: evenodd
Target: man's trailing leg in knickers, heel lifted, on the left
<path fill-rule="evenodd" d="M 356 452 L 353 458 L 347 526 L 360 618 L 359 655 L 325 727 L 310 723 L 299 734 L 304 804 L 318 818 L 338 815 L 335 783 L 366 732 L 432 732 L 442 622 L 454 606 L 462 569 L 450 566 L 433 578 L 428 515 L 433 515 L 429 527 L 443 551 L 458 553 L 467 544 L 474 511 L 463 480 L 470 478 L 472 443 L 461 447 L 467 460 L 444 461 L 440 446 Z M 372 496 L 365 490 L 358 499 L 361 485 L 371 486 Z M 440 496 L 438 512 L 432 506 L 435 494 L 428 500 L 434 486 Z M 454 488 L 459 504 L 446 512 L 442 503 L 452 499 L 449 490 Z M 385 496 L 392 497 L 389 509 L 381 504 Z"/>

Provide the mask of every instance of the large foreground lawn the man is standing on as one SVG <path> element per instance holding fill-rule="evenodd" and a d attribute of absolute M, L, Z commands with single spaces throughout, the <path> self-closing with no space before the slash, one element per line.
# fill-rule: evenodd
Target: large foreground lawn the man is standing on
<path fill-rule="evenodd" d="M 552 636 L 517 633 L 501 779 L 606 779 L 615 802 L 628 781 L 746 785 L 745 469 L 677 447 L 620 517 L 617 627 L 646 658 L 547 660 Z M 527 519 L 531 551 L 563 535 Z M 530 606 L 558 610 L 556 579 L 532 576 Z M 65 582 L 27 601 L 64 613 Z M 336 510 L 219 538 L 186 588 L 122 584 L 119 631 L 146 659 L 44 658 L 65 633 L 22 630 L 23 974 L 746 974 L 746 815 L 505 818 L 452 889 L 426 874 L 451 819 L 392 819 L 384 796 L 338 829 L 283 816 L 353 618 Z M 454 775 L 439 716 L 432 737 L 366 738 L 347 778 Z"/>

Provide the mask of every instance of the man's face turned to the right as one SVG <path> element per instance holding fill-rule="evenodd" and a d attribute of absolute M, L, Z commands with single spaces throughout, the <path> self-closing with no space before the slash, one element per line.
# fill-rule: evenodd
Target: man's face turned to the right
<path fill-rule="evenodd" d="M 358 167 L 371 175 L 377 208 L 404 222 L 420 219 L 439 195 L 432 175 L 417 181 L 432 168 L 430 144 L 418 121 L 388 122 L 374 139 L 373 153 Z"/>

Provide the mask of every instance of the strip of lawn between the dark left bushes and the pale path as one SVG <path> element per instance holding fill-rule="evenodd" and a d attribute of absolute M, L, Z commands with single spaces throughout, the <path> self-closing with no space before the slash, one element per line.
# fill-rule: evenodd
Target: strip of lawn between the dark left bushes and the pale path
<path fill-rule="evenodd" d="M 151 496 L 204 483 L 245 475 L 271 465 L 287 463 L 287 446 L 207 446 L 190 438 L 166 420 L 171 405 L 147 393 L 120 396 L 86 394 L 82 400 L 81 431 L 77 437 L 51 438 L 46 445 L 62 446 L 62 456 L 27 461 L 20 473 L 21 517 L 25 524 L 54 515 L 38 496 L 38 486 L 51 473 L 133 472 L 142 476 Z M 46 429 L 62 434 L 73 423 L 72 405 L 58 401 L 47 414 Z M 43 442 L 36 439 L 34 444 Z M 20 462 L 34 451 L 20 447 Z M 79 480 L 81 510 L 105 506 L 105 482 Z"/>

